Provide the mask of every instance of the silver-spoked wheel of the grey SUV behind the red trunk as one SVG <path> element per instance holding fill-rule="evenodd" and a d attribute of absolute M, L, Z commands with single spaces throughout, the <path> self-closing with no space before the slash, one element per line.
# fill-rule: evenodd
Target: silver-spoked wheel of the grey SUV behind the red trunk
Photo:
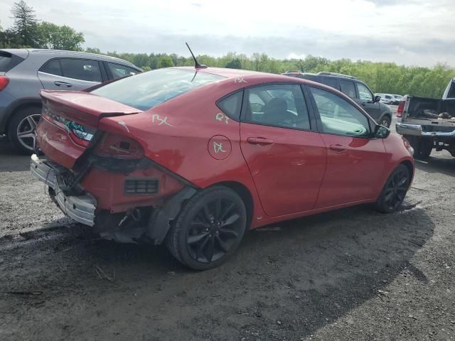
<path fill-rule="evenodd" d="M 41 108 L 26 107 L 13 114 L 8 126 L 9 141 L 22 153 L 35 149 L 35 129 L 41 117 Z"/>

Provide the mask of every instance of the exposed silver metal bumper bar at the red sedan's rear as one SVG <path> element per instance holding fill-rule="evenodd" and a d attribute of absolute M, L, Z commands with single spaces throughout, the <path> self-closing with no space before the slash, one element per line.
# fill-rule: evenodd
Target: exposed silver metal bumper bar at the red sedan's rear
<path fill-rule="evenodd" d="M 58 185 L 58 175 L 61 173 L 61 166 L 50 161 L 40 160 L 38 156 L 31 156 L 30 171 L 35 178 L 43 181 L 45 185 L 52 188 L 55 193 L 55 202 L 60 210 L 68 217 L 88 226 L 95 225 L 95 210 L 97 202 L 92 195 L 65 195 Z M 50 191 L 51 192 L 51 191 Z"/>

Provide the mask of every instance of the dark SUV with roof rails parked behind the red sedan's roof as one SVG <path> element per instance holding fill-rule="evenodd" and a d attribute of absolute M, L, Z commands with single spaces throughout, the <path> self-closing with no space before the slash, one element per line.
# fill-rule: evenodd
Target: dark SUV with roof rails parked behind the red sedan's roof
<path fill-rule="evenodd" d="M 379 97 L 373 95 L 368 85 L 355 77 L 333 72 L 318 72 L 316 74 L 289 71 L 282 75 L 312 80 L 333 87 L 360 104 L 379 124 L 390 126 L 392 110 L 387 105 L 382 104 Z"/>

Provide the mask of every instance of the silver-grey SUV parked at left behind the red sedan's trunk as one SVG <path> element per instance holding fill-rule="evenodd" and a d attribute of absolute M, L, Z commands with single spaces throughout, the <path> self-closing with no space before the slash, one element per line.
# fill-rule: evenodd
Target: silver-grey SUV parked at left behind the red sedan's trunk
<path fill-rule="evenodd" d="M 84 90 L 137 72 L 141 69 L 125 60 L 92 53 L 0 50 L 0 135 L 31 153 L 41 116 L 40 90 Z"/>

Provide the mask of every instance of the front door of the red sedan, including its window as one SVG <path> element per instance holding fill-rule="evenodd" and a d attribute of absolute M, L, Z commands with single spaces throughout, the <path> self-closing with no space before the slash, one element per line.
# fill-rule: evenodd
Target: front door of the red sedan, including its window
<path fill-rule="evenodd" d="M 373 121 L 339 94 L 309 87 L 327 168 L 316 208 L 375 199 L 385 169 L 382 139 L 372 139 Z"/>

